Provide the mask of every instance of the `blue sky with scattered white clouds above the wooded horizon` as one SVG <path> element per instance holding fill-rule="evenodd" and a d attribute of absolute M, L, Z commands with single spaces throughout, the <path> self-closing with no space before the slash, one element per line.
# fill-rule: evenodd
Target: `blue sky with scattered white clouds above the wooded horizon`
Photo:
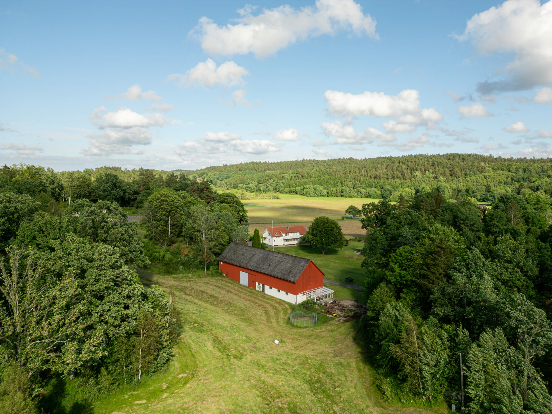
<path fill-rule="evenodd" d="M 552 155 L 552 1 L 0 2 L 0 161 Z"/>

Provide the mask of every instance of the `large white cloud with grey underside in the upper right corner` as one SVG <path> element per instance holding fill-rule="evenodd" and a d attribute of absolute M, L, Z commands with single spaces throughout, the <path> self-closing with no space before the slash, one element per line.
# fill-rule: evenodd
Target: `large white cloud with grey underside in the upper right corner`
<path fill-rule="evenodd" d="M 552 84 L 552 2 L 508 0 L 475 14 L 458 40 L 471 40 L 482 55 L 513 54 L 501 73 L 506 78 L 481 82 L 480 93 L 519 91 Z"/>

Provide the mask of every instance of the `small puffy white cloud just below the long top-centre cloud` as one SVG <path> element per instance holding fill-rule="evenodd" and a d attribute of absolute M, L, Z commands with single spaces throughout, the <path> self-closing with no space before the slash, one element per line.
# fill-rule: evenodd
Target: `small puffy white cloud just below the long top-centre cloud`
<path fill-rule="evenodd" d="M 204 88 L 210 88 L 217 84 L 223 86 L 245 84 L 242 77 L 246 75 L 249 75 L 249 71 L 235 62 L 227 61 L 217 67 L 213 59 L 207 59 L 205 62 L 199 62 L 185 75 L 172 73 L 167 76 L 167 80 L 174 81 L 178 86 L 199 84 Z"/>

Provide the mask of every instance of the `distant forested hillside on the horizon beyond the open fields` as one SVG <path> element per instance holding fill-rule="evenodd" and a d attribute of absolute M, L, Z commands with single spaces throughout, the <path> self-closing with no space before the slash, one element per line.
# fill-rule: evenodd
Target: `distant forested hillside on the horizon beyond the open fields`
<path fill-rule="evenodd" d="M 192 172 L 186 172 L 192 174 Z M 193 172 L 220 188 L 317 197 L 390 198 L 439 188 L 447 197 L 490 202 L 505 190 L 551 191 L 549 159 L 475 154 L 406 155 L 357 160 L 250 162 Z"/>

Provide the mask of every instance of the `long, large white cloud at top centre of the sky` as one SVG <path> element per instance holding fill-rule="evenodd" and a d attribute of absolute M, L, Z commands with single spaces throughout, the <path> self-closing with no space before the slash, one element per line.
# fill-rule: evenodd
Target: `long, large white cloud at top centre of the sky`
<path fill-rule="evenodd" d="M 334 35 L 339 30 L 378 38 L 375 20 L 353 0 L 317 0 L 314 7 L 300 9 L 285 5 L 263 9 L 258 15 L 251 14 L 252 11 L 253 7 L 247 6 L 238 10 L 242 17 L 236 19 L 237 24 L 226 26 L 202 17 L 190 35 L 200 40 L 203 51 L 209 55 L 252 52 L 261 58 L 298 40 Z"/>

